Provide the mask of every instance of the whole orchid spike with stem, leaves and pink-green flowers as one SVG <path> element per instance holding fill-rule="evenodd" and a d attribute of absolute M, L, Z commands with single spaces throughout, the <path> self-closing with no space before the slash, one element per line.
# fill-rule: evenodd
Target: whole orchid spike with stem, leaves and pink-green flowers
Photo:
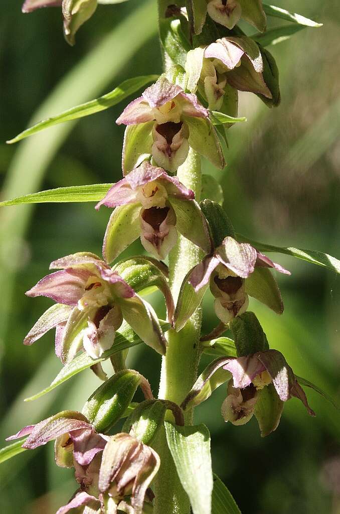
<path fill-rule="evenodd" d="M 73 45 L 97 4 L 110 3 L 117 0 L 26 0 L 23 12 L 61 7 L 65 38 Z M 238 91 L 257 95 L 269 107 L 280 103 L 278 68 L 265 46 L 278 34 L 288 38 L 293 32 L 289 25 L 266 32 L 267 16 L 301 27 L 320 25 L 260 0 L 180 0 L 176 5 L 158 0 L 158 10 L 162 74 L 130 79 L 115 90 L 118 103 L 153 82 L 116 121 L 126 125 L 123 178 L 102 185 L 101 193 L 98 185 L 82 187 L 98 202 L 97 210 L 113 209 L 103 259 L 74 249 L 52 262 L 57 271 L 26 293 L 55 304 L 24 344 L 55 328 L 55 353 L 64 366 L 47 389 L 30 399 L 88 368 L 103 381 L 82 412 L 59 412 L 26 426 L 8 437 L 20 440 L 2 450 L 5 461 L 55 440 L 56 464 L 74 468 L 75 476 L 74 495 L 57 514 L 237 513 L 229 490 L 213 479 L 209 430 L 193 425 L 194 408 L 223 386 L 224 420 L 237 430 L 255 416 L 261 435 L 267 436 L 293 397 L 315 416 L 304 387 L 323 394 L 270 348 L 249 310 L 249 296 L 282 315 L 274 273 L 290 271 L 262 251 L 288 253 L 337 273 L 340 261 L 317 251 L 254 243 L 235 233 L 216 201 L 217 180 L 209 182 L 209 197 L 201 173 L 202 158 L 219 170 L 228 162 L 228 130 L 245 121 L 238 117 Z M 240 21 L 246 22 L 242 28 Z M 90 113 L 87 107 L 37 123 L 9 142 L 103 110 L 100 99 Z M 77 187 L 72 191 L 76 199 L 80 192 Z M 64 201 L 62 194 L 50 190 L 2 205 L 40 201 L 42 195 L 44 201 Z M 139 237 L 145 253 L 122 260 L 121 253 Z M 164 297 L 166 320 L 144 298 L 154 288 Z M 209 289 L 216 327 L 202 334 L 202 299 Z M 126 368 L 128 349 L 142 343 L 162 356 L 156 397 L 146 377 Z M 203 353 L 215 359 L 198 375 Z M 110 377 L 102 368 L 108 359 Z M 138 387 L 145 399 L 134 402 Z"/>

